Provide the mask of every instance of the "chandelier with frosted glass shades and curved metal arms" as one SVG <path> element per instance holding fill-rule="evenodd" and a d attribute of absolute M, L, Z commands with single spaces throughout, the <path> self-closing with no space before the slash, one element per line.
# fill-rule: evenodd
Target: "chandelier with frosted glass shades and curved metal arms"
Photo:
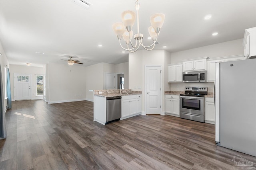
<path fill-rule="evenodd" d="M 144 49 L 150 51 L 152 49 L 154 49 L 155 44 L 156 44 L 156 40 L 158 38 L 158 35 L 160 33 L 160 29 L 162 28 L 163 24 L 164 24 L 164 18 L 165 15 L 158 13 L 158 14 L 154 14 L 150 17 L 150 23 L 151 26 L 148 27 L 148 32 L 150 37 L 153 40 L 153 43 L 149 46 L 145 46 L 142 42 L 143 39 L 143 34 L 140 33 L 140 25 L 139 25 L 139 8 L 140 8 L 140 3 L 138 2 L 138 0 L 136 0 L 135 2 L 135 9 L 137 12 L 137 33 L 134 35 L 134 39 L 135 39 L 135 44 L 132 43 L 132 36 L 133 36 L 133 31 L 132 31 L 132 26 L 135 23 L 136 20 L 136 13 L 133 11 L 124 11 L 122 13 L 122 22 L 117 22 L 113 24 L 113 29 L 114 32 L 116 33 L 116 36 L 119 40 L 119 44 L 120 46 L 127 51 L 130 52 L 135 52 L 139 49 L 140 46 L 144 47 Z M 121 39 L 124 39 L 127 48 L 124 48 L 121 45 Z M 129 47 L 130 46 L 130 47 Z"/>

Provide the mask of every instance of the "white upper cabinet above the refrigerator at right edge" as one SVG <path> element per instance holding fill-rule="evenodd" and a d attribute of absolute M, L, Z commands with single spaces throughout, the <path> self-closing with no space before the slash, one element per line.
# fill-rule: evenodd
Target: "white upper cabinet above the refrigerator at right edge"
<path fill-rule="evenodd" d="M 244 56 L 246 59 L 256 56 L 256 27 L 246 29 L 244 32 Z"/>

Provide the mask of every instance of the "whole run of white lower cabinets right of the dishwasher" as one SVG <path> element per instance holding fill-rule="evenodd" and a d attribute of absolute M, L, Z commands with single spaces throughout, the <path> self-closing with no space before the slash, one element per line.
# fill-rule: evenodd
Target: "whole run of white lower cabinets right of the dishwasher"
<path fill-rule="evenodd" d="M 121 108 L 121 119 L 138 115 L 141 112 L 141 95 L 122 96 Z"/>

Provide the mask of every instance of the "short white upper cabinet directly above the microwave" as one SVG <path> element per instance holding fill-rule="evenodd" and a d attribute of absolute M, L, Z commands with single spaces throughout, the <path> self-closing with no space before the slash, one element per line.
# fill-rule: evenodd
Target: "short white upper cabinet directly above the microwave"
<path fill-rule="evenodd" d="M 183 61 L 183 71 L 206 70 L 206 59 L 208 59 L 208 57 Z"/>

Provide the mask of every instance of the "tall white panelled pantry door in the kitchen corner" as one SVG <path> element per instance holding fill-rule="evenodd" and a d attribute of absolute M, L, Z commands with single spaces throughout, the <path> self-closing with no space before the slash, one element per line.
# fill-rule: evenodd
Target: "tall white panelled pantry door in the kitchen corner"
<path fill-rule="evenodd" d="M 161 66 L 146 66 L 146 114 L 161 114 Z"/>

